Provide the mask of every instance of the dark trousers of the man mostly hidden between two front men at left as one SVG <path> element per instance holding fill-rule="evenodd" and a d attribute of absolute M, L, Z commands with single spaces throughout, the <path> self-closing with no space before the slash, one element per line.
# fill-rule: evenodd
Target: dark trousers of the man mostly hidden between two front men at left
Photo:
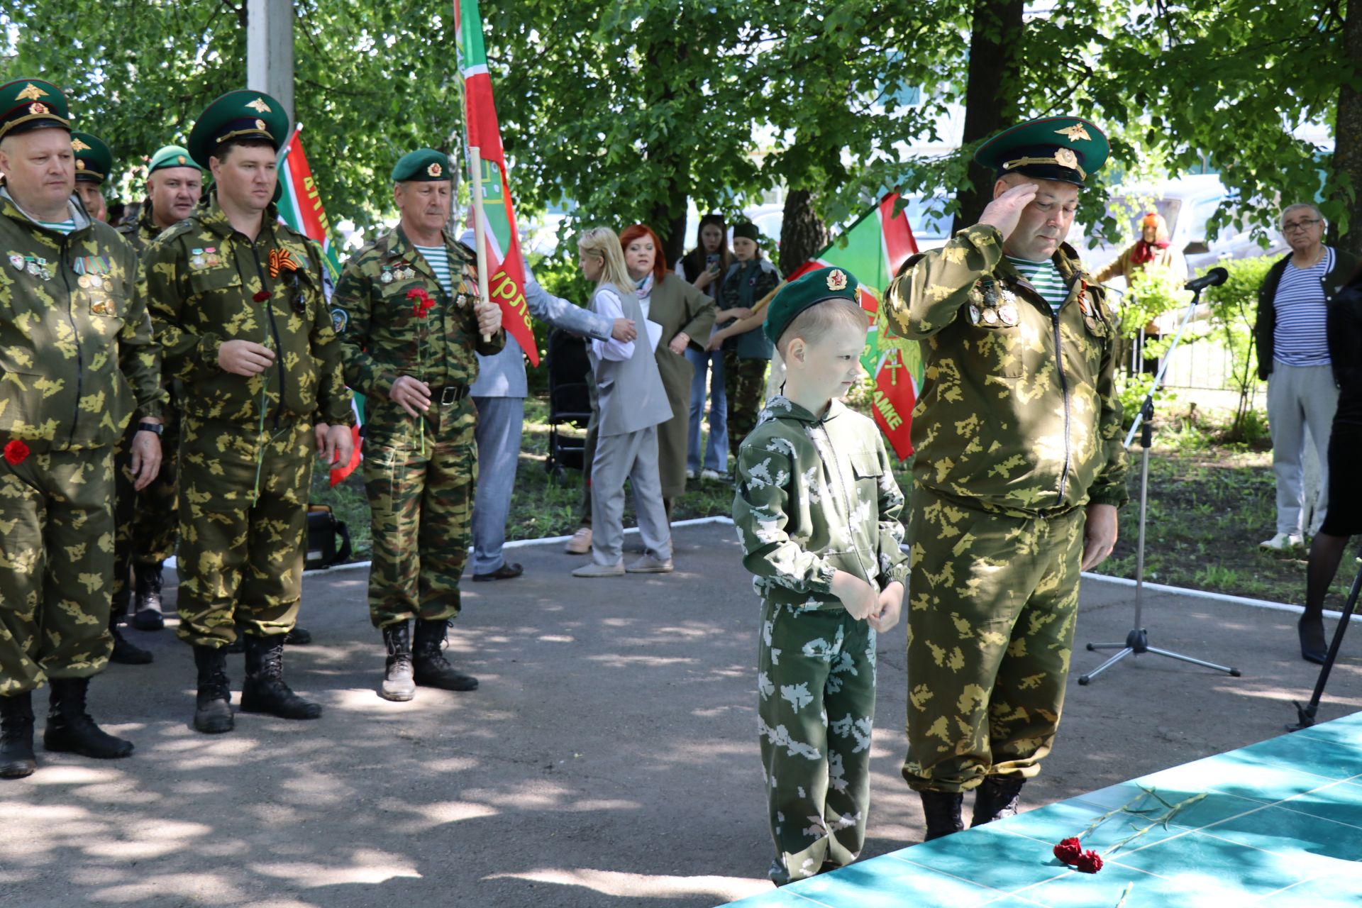
<path fill-rule="evenodd" d="M 176 508 L 176 472 L 180 456 L 180 418 L 162 411 L 161 472 L 142 491 L 132 487 L 132 436 L 138 421 L 118 441 L 113 453 L 113 600 L 128 604 L 128 572 L 133 564 L 158 565 L 174 554 L 180 516 Z"/>

